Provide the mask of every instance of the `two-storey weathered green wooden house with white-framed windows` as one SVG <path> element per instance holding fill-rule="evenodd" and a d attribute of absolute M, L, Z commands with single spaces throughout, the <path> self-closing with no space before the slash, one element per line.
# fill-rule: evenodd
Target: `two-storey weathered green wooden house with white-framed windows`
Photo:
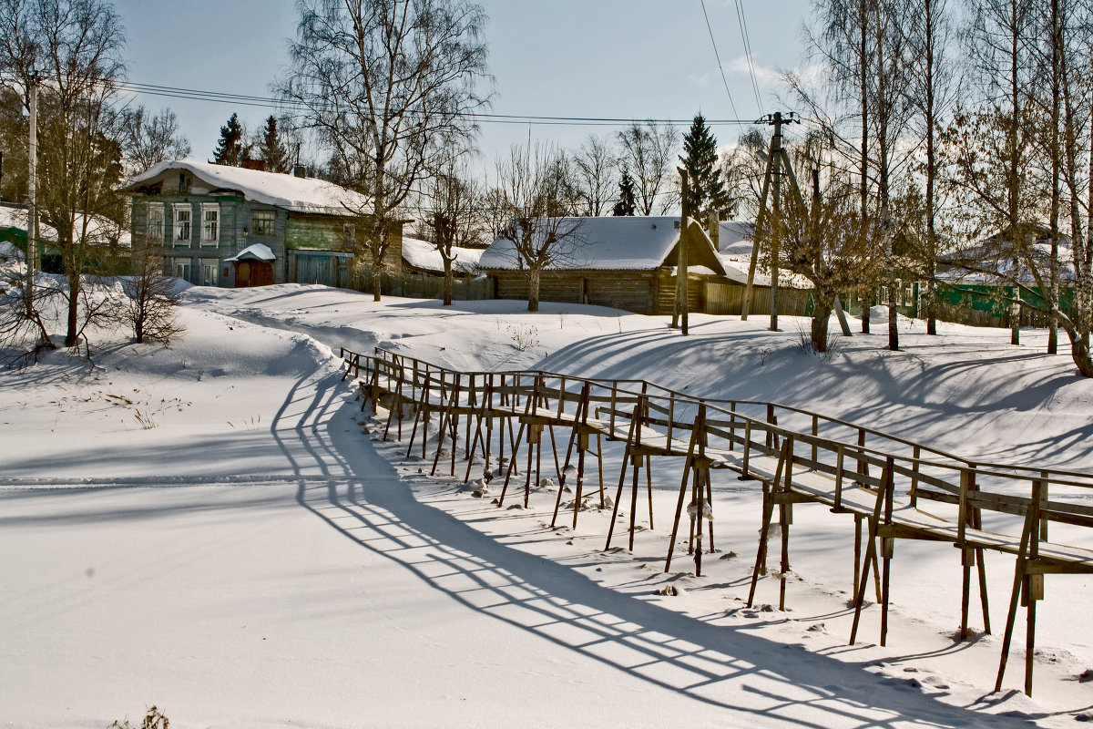
<path fill-rule="evenodd" d="M 161 246 L 168 273 L 211 286 L 234 286 L 239 261 L 228 259 L 256 244 L 273 255 L 265 261 L 271 283 L 345 285 L 346 242 L 362 224 L 351 211 L 367 207 L 326 180 L 192 160 L 154 165 L 121 191 L 132 201 L 133 239 Z M 399 273 L 401 223 L 395 236 L 385 263 Z"/>

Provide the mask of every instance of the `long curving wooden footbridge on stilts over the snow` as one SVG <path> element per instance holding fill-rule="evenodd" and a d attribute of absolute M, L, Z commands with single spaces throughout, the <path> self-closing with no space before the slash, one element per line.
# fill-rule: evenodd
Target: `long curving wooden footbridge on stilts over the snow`
<path fill-rule="evenodd" d="M 458 446 L 469 481 L 481 458 L 486 482 L 502 480 L 498 507 L 519 487 L 518 461 L 524 460 L 522 492 L 542 479 L 543 444 L 550 439 L 548 469 L 557 479 L 557 499 L 551 526 L 557 522 L 562 492 L 572 484 L 573 527 L 583 499 L 598 496 L 607 505 L 603 443 L 624 445 L 622 472 L 604 550 L 614 537 L 619 504 L 630 495 L 628 544 L 633 549 L 639 508 L 642 470 L 649 526 L 653 527 L 651 467 L 654 459 L 683 459 L 683 477 L 671 524 L 665 571 L 686 507 L 690 524 L 687 552 L 695 574 L 702 574 L 704 541 L 714 545 L 709 509 L 715 484 L 712 475 L 727 470 L 762 489 L 759 545 L 748 604 L 752 604 L 766 569 L 772 524 L 777 509 L 780 536 L 778 605 L 786 605 L 785 577 L 789 573 L 789 531 L 796 503 L 818 503 L 836 515 L 853 517 L 855 527 L 854 623 L 850 644 L 870 581 L 881 605 L 880 644 L 886 642 L 890 566 L 900 539 L 952 544 L 961 554 L 963 591 L 961 638 L 967 637 L 972 610 L 972 577 L 978 586 L 978 609 L 990 632 L 985 551 L 1014 557 L 1013 586 L 996 691 L 1001 690 L 1019 603 L 1025 608 L 1024 691 L 1032 695 L 1036 603 L 1044 599 L 1044 577 L 1060 573 L 1093 573 L 1093 474 L 1013 465 L 973 462 L 937 448 L 888 435 L 799 408 L 772 402 L 702 399 L 653 383 L 633 379 L 589 379 L 538 371 L 457 372 L 422 360 L 376 349 L 372 355 L 342 350 L 343 378 L 360 383 L 364 403 L 387 410 L 385 439 L 401 440 L 409 432 L 408 455 L 420 444 L 426 457 L 426 433 L 435 421 L 437 440 L 432 472 L 447 456 L 456 473 Z M 447 447 L 445 447 L 447 444 Z M 522 452 L 521 452 L 522 451 Z M 560 458 L 564 452 L 564 459 Z M 506 455 L 507 454 L 507 455 Z M 595 458 L 595 490 L 586 487 L 589 457 Z M 534 477 L 532 477 L 534 474 Z M 627 478 L 628 475 L 628 478 Z M 921 508 L 933 504 L 935 515 Z M 1022 528 L 995 522 L 997 515 L 1020 517 Z M 991 521 L 988 529 L 985 516 Z M 565 517 L 567 518 L 567 517 Z M 1010 519 L 1012 524 L 1015 520 Z M 1048 539 L 1061 532 L 1062 539 Z M 705 533 L 704 533 L 705 532 Z M 862 540 L 865 537 L 865 540 Z M 862 553 L 865 541 L 865 553 Z M 1084 546 L 1079 546 L 1079 544 Z M 872 576 L 872 580 L 870 580 Z"/>

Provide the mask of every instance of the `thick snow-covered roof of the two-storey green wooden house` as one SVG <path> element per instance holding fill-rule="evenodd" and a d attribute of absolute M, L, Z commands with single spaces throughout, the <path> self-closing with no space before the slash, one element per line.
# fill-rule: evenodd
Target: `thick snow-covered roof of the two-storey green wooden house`
<path fill-rule="evenodd" d="M 214 165 L 196 160 L 161 162 L 150 167 L 148 172 L 131 178 L 121 191 L 136 192 L 138 187 L 161 175 L 181 169 L 190 172 L 213 190 L 234 190 L 242 192 L 248 200 L 257 200 L 293 212 L 348 215 L 351 213 L 346 210 L 346 205 L 352 210 L 360 210 L 368 203 L 368 198 L 365 196 L 324 179 Z"/>

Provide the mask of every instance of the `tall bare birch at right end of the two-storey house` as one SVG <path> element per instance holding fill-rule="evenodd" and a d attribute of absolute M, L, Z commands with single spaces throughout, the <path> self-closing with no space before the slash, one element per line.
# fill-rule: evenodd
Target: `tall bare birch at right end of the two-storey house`
<path fill-rule="evenodd" d="M 418 183 L 477 133 L 490 95 L 486 15 L 469 0 L 301 0 L 291 70 L 275 84 L 367 195 L 355 245 L 380 298 L 385 256 Z"/>

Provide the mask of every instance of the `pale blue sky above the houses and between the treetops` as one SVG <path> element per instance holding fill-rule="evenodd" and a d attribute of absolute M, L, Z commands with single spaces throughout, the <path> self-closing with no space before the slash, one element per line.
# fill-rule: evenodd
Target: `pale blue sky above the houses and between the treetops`
<path fill-rule="evenodd" d="M 490 70 L 496 78 L 497 114 L 610 118 L 751 119 L 759 116 L 732 0 L 706 0 L 725 67 L 733 111 L 700 0 L 493 0 Z M 257 96 L 287 62 L 295 31 L 293 0 L 115 0 L 128 34 L 129 80 Z M 744 0 L 759 84 L 766 106 L 776 105 L 775 69 L 800 62 L 799 30 L 808 0 Z M 155 110 L 178 114 L 193 156 L 212 155 L 220 127 L 233 111 L 257 129 L 271 109 L 242 104 L 141 96 Z M 612 127 L 532 126 L 532 140 L 576 145 Z M 721 143 L 738 134 L 715 127 Z M 485 124 L 479 142 L 486 161 L 513 142 L 527 141 L 528 125 Z"/>

